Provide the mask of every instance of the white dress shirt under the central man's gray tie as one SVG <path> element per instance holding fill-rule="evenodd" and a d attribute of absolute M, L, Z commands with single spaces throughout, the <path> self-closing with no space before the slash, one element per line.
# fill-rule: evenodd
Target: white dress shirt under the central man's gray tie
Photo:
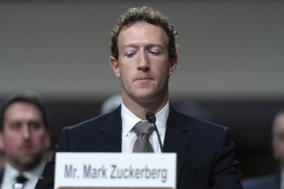
<path fill-rule="evenodd" d="M 156 113 L 156 126 L 158 128 L 162 145 L 164 145 L 164 138 L 166 132 L 167 118 L 170 111 L 169 101 L 162 110 Z M 123 102 L 121 103 L 121 118 L 122 118 L 122 153 L 132 153 L 134 142 L 137 139 L 136 134 L 133 131 L 133 127 L 136 123 L 141 121 L 136 115 L 130 112 Z M 142 120 L 144 121 L 144 120 Z M 153 124 L 152 124 L 153 125 Z M 153 126 L 154 127 L 154 126 Z M 154 130 L 150 136 L 150 143 L 153 146 L 155 153 L 161 153 L 160 144 L 156 131 Z"/>

